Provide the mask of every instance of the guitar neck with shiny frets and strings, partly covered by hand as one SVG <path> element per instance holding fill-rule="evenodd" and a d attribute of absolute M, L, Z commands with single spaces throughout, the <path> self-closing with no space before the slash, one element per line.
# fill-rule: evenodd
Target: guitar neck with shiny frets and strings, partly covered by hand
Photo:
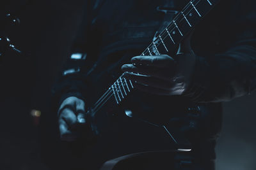
<path fill-rule="evenodd" d="M 180 11 L 177 16 L 170 22 L 157 38 L 144 50 L 141 55 L 161 55 L 164 53 L 173 53 L 175 47 L 179 45 L 180 41 L 186 37 L 194 28 L 195 25 L 202 20 L 202 18 L 212 10 L 214 5 L 220 0 L 191 0 Z M 134 89 L 131 80 L 127 80 L 120 76 L 111 87 L 100 97 L 100 99 L 93 105 L 92 115 L 106 104 L 109 99 L 113 99 L 116 105 L 120 104 L 127 94 Z"/>

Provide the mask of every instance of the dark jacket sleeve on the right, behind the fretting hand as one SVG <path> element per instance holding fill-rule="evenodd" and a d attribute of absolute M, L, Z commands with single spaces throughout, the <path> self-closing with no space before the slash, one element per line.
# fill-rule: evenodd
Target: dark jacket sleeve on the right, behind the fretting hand
<path fill-rule="evenodd" d="M 223 53 L 196 56 L 195 73 L 184 92 L 195 102 L 230 101 L 256 89 L 256 3 L 239 1 L 227 20 L 234 41 Z"/>

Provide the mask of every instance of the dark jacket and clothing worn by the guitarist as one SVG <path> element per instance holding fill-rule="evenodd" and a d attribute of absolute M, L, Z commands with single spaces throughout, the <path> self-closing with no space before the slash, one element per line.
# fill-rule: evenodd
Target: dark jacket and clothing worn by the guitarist
<path fill-rule="evenodd" d="M 71 50 L 71 53 L 86 53 L 86 59 L 68 59 L 65 69 L 79 67 L 79 72 L 61 76 L 56 83 L 53 89 L 56 109 L 68 96 L 80 97 L 88 105 L 93 103 L 122 74 L 122 64 L 140 55 L 156 31 L 162 31 L 175 11 L 182 10 L 186 3 L 185 0 L 87 1 L 81 32 Z M 189 90 L 182 96 L 168 97 L 136 92 L 124 107 L 142 115 L 170 116 L 172 125 L 185 132 L 191 141 L 196 158 L 215 159 L 214 146 L 221 129 L 220 102 L 244 96 L 256 88 L 255 9 L 254 1 L 221 1 L 193 34 L 191 45 L 197 56 Z M 186 114 L 188 108 L 198 105 L 204 114 Z M 136 131 L 125 120 L 122 124 L 118 128 L 124 134 L 133 128 Z M 140 133 L 128 137 L 140 138 Z M 141 141 L 141 146 L 147 142 Z M 136 148 L 136 143 L 132 144 L 126 150 L 124 145 L 113 146 L 116 155 L 141 151 L 140 145 Z M 110 155 L 112 158 L 115 153 Z M 109 159 L 108 154 L 104 156 L 103 161 Z"/>

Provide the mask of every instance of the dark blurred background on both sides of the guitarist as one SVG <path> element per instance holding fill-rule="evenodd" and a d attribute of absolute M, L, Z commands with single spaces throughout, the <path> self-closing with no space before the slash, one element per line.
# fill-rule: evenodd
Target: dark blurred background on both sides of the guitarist
<path fill-rule="evenodd" d="M 9 0 L 0 6 L 0 34 L 8 34 L 24 52 L 8 52 L 0 61 L 0 169 L 47 169 L 40 151 L 55 117 L 49 111 L 51 86 L 68 57 L 83 0 Z M 20 18 L 20 25 L 3 31 L 7 11 Z M 217 170 L 256 169 L 255 100 L 254 92 L 224 103 Z M 31 110 L 42 111 L 39 118 L 49 124 L 38 124 Z"/>

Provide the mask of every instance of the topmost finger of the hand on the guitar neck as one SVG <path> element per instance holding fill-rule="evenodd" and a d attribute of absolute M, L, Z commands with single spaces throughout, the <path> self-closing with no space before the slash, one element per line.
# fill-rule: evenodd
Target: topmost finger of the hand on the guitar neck
<path fill-rule="evenodd" d="M 137 56 L 132 57 L 131 62 L 154 67 L 172 67 L 175 61 L 169 55 Z"/>

